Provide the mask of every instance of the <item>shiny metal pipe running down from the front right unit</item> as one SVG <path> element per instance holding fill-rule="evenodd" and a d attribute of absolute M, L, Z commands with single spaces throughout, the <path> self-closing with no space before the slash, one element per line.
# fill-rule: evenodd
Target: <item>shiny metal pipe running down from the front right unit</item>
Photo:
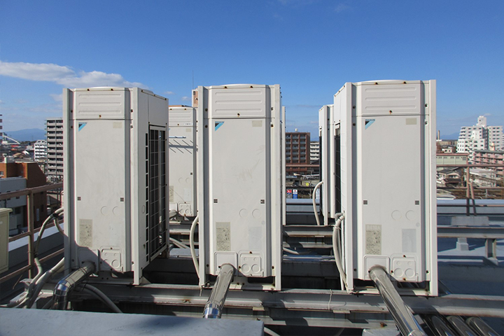
<path fill-rule="evenodd" d="M 370 277 L 376 284 L 388 311 L 390 311 L 402 335 L 426 336 L 426 333 L 413 317 L 411 311 L 406 307 L 397 290 L 395 290 L 392 281 L 388 279 L 386 270 L 379 265 L 374 265 L 370 269 Z"/>

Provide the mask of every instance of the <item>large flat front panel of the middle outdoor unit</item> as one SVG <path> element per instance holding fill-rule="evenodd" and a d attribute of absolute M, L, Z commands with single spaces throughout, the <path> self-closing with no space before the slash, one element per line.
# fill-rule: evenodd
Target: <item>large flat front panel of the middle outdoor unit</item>
<path fill-rule="evenodd" d="M 210 273 L 230 262 L 245 276 L 269 276 L 269 122 L 241 118 L 209 122 Z"/>

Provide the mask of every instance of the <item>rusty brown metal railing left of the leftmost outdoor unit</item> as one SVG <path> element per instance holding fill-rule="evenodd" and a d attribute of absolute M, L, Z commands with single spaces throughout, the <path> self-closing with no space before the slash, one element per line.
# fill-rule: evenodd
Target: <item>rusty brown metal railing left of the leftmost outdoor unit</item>
<path fill-rule="evenodd" d="M 9 193 L 2 193 L 0 194 L 0 201 L 2 200 L 8 200 L 13 197 L 20 197 L 20 196 L 27 196 L 27 232 L 23 232 L 20 235 L 15 235 L 13 237 L 9 237 L 8 241 L 9 243 L 11 241 L 17 241 L 19 239 L 28 237 L 28 265 L 25 267 L 21 267 L 20 269 L 10 272 L 6 276 L 3 276 L 0 278 L 0 283 L 3 283 L 4 281 L 7 281 L 8 279 L 13 278 L 14 276 L 23 274 L 24 272 L 28 271 L 28 276 L 29 278 L 32 278 L 34 276 L 34 267 L 35 265 L 35 241 L 34 241 L 34 235 L 40 231 L 40 228 L 34 228 L 34 195 L 36 193 L 43 193 L 48 190 L 55 190 L 59 189 L 62 190 L 63 188 L 63 183 L 55 183 L 55 184 L 48 184 L 45 186 L 40 186 L 40 187 L 35 187 L 35 188 L 26 188 L 23 190 L 17 190 L 17 191 L 11 191 Z M 54 224 L 47 225 L 46 228 L 50 228 Z M 54 258 L 56 255 L 59 255 L 63 253 L 63 249 L 60 249 L 59 251 L 56 251 L 55 253 L 51 253 L 50 255 L 46 255 L 44 258 L 41 258 L 41 262 L 45 262 L 46 260 L 49 260 L 50 258 Z"/>

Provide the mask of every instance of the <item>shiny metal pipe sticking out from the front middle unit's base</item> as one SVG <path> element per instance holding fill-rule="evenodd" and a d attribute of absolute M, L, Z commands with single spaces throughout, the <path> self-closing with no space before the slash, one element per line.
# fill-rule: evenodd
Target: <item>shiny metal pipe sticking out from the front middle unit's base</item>
<path fill-rule="evenodd" d="M 219 272 L 209 300 L 205 304 L 203 318 L 221 318 L 225 298 L 228 296 L 229 287 L 234 276 L 235 267 L 233 265 L 224 264 L 221 266 L 221 272 Z"/>

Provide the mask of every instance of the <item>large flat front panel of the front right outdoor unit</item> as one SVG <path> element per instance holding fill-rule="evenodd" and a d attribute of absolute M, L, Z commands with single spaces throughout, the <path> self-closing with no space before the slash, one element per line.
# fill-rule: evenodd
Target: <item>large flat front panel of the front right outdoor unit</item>
<path fill-rule="evenodd" d="M 358 278 L 369 279 L 378 264 L 400 281 L 423 281 L 423 119 L 357 117 L 356 124 Z"/>

